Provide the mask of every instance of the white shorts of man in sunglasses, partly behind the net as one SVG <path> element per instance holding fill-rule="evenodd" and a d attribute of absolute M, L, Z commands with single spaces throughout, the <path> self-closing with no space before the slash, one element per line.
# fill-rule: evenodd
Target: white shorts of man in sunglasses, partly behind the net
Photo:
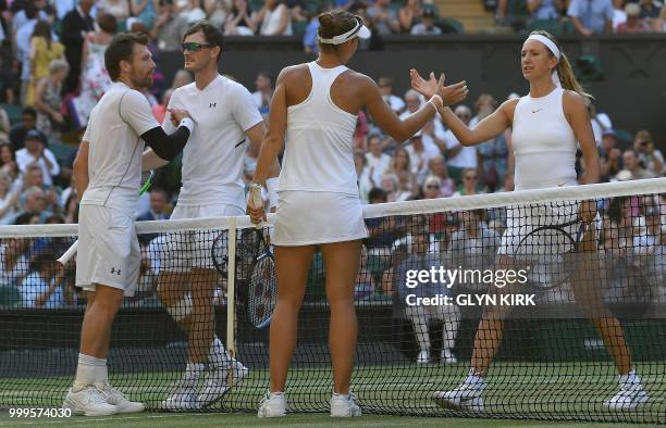
<path fill-rule="evenodd" d="M 178 205 L 176 204 L 171 219 L 230 217 L 244 215 L 243 209 L 236 205 Z M 161 251 L 160 268 L 166 272 L 189 272 L 193 267 L 213 269 L 210 251 L 219 232 L 209 230 L 181 231 L 168 234 Z"/>

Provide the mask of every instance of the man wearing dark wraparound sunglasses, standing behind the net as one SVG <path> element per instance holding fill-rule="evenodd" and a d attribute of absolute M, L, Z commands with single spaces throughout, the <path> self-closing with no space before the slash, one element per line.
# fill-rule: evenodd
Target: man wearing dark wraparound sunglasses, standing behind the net
<path fill-rule="evenodd" d="M 183 38 L 185 68 L 195 81 L 176 89 L 170 109 L 187 109 L 197 117 L 190 144 L 183 152 L 183 187 L 171 218 L 220 217 L 245 214 L 243 159 L 249 140 L 259 152 L 264 125 L 250 92 L 218 73 L 223 37 L 207 21 L 190 27 Z M 168 113 L 162 125 L 172 129 Z M 166 164 L 152 151 L 144 154 L 145 167 Z M 271 176 L 280 173 L 278 162 Z M 276 203 L 276 180 L 268 180 L 272 205 Z M 232 358 L 215 335 L 213 294 L 218 273 L 211 264 L 214 237 L 205 232 L 183 235 L 166 242 L 158 295 L 166 311 L 187 333 L 189 355 L 185 374 L 162 402 L 165 410 L 183 411 L 208 406 L 238 385 L 248 369 Z M 208 363 L 208 378 L 201 391 L 197 380 Z"/>

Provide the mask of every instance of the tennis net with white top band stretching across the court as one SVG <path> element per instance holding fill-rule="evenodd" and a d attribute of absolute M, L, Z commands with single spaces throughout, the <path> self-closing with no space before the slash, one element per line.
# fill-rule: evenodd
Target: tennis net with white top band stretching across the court
<path fill-rule="evenodd" d="M 581 226 L 576 219 L 590 200 L 597 215 Z M 353 376 L 365 413 L 666 421 L 666 178 L 367 205 L 365 217 L 370 237 L 354 291 Z M 217 336 L 232 341 L 226 345 L 249 374 L 201 411 L 256 412 L 268 387 L 269 355 L 268 328 L 252 327 L 244 304 L 251 229 L 247 217 L 137 224 L 139 280 L 116 317 L 108 357 L 116 388 L 160 408 L 188 357 L 187 337 L 166 306 L 187 316 L 203 299 Z M 59 270 L 53 261 L 76 232 L 75 225 L 0 228 L 2 408 L 59 406 L 71 386 L 85 294 L 73 287 L 74 263 Z M 224 274 L 200 293 L 210 284 L 205 275 L 183 275 L 187 266 L 214 269 L 215 240 L 226 249 Z M 287 381 L 291 412 L 329 408 L 324 274 L 317 251 Z M 184 289 L 189 299 L 170 298 L 165 305 L 158 288 L 162 295 Z M 476 347 L 477 356 L 485 356 L 476 368 L 488 366 L 484 407 L 443 408 L 433 393 L 466 378 L 484 313 L 504 327 L 501 343 L 493 324 L 494 332 L 483 330 L 490 336 Z M 628 365 L 649 399 L 609 410 L 604 402 L 620 390 L 618 369 Z"/>

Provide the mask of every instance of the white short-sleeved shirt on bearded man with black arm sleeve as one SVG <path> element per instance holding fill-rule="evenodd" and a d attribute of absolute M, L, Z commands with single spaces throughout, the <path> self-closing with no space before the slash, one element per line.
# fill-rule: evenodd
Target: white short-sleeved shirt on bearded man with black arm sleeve
<path fill-rule="evenodd" d="M 90 113 L 88 188 L 82 205 L 122 210 L 134 217 L 141 181 L 141 134 L 160 126 L 146 97 L 114 83 Z"/>

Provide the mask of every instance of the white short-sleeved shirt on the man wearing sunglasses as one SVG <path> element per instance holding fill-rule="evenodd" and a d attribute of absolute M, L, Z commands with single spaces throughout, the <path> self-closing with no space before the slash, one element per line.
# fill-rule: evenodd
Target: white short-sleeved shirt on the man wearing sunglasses
<path fill-rule="evenodd" d="M 218 75 L 202 90 L 196 83 L 176 89 L 169 109 L 184 109 L 197 126 L 183 150 L 178 205 L 229 204 L 245 210 L 245 131 L 262 121 L 250 92 Z M 162 127 L 175 129 L 166 113 Z"/>

